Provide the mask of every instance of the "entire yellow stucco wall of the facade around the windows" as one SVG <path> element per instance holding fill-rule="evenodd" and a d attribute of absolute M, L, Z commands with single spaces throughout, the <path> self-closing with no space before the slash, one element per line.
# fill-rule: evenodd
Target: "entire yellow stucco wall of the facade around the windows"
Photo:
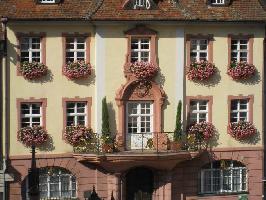
<path fill-rule="evenodd" d="M 133 28 L 133 25 L 109 25 L 104 26 L 104 46 L 105 46 L 105 81 L 104 89 L 107 101 L 111 104 L 110 108 L 110 123 L 111 130 L 115 132 L 118 126 L 117 105 L 115 102 L 115 92 L 126 82 L 123 73 L 123 65 L 125 63 L 125 55 L 127 53 L 127 39 L 124 31 Z M 254 124 L 258 131 L 262 134 L 262 81 L 255 84 L 237 83 L 230 79 L 226 74 L 227 67 L 227 35 L 230 33 L 238 34 L 254 34 L 254 64 L 257 67 L 262 79 L 263 67 L 263 27 L 249 27 L 246 26 L 225 26 L 225 25 L 211 25 L 208 28 L 202 26 L 177 26 L 177 25 L 153 25 L 149 26 L 158 31 L 158 58 L 161 69 L 160 76 L 156 78 L 157 82 L 161 82 L 164 91 L 167 94 L 167 100 L 164 106 L 164 131 L 173 131 L 176 115 L 176 95 L 179 91 L 175 91 L 176 70 L 178 55 L 176 29 L 180 27 L 185 28 L 185 34 L 213 34 L 213 60 L 220 70 L 220 80 L 214 86 L 203 86 L 195 84 L 186 80 L 186 94 L 188 96 L 205 95 L 213 96 L 213 124 L 219 133 L 219 147 L 236 147 L 236 146 L 253 146 L 251 144 L 241 144 L 231 138 L 226 132 L 228 120 L 228 95 L 254 95 Z M 16 52 L 15 45 L 17 43 L 14 32 L 36 32 L 34 24 L 19 25 L 11 24 L 8 28 L 9 47 L 8 53 L 11 55 L 10 60 L 10 141 L 11 141 L 11 155 L 29 153 L 29 149 L 17 142 L 17 108 L 16 98 L 47 98 L 47 130 L 52 135 L 55 149 L 52 153 L 71 152 L 71 146 L 65 144 L 62 140 L 63 129 L 63 110 L 62 97 L 92 97 L 92 125 L 94 124 L 95 115 L 95 83 L 93 81 L 83 81 L 82 83 L 75 83 L 68 81 L 61 73 L 62 67 L 62 32 L 91 32 L 91 46 L 90 46 L 90 60 L 95 66 L 95 40 L 94 29 L 88 24 L 69 23 L 60 24 L 43 24 L 38 26 L 38 32 L 46 32 L 46 63 L 53 73 L 53 80 L 45 83 L 31 83 L 24 80 L 21 76 L 16 75 Z M 163 81 L 160 81 L 163 80 Z M 90 82 L 90 83 L 89 83 Z M 93 127 L 94 128 L 94 127 Z M 261 146 L 262 140 L 256 145 Z M 14 148 L 14 146 L 16 148 Z M 51 152 L 49 152 L 51 153 Z"/>

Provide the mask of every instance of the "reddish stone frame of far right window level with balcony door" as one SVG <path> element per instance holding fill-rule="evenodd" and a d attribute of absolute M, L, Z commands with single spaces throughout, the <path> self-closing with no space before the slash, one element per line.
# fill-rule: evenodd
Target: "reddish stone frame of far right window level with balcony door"
<path fill-rule="evenodd" d="M 253 123 L 254 96 L 253 95 L 248 95 L 248 96 L 243 96 L 243 95 L 233 96 L 233 95 L 229 95 L 228 96 L 228 124 L 231 123 L 231 104 L 232 104 L 232 100 L 242 100 L 242 99 L 248 100 L 248 115 L 247 115 L 247 119 L 248 119 L 248 122 L 252 122 Z"/>

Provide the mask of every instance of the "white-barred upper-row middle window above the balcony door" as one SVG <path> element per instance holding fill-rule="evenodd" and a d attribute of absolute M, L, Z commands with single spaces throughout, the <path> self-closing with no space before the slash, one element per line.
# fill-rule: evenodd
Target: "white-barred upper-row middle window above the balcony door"
<path fill-rule="evenodd" d="M 131 39 L 131 62 L 136 62 L 136 61 L 150 62 L 149 38 Z"/>

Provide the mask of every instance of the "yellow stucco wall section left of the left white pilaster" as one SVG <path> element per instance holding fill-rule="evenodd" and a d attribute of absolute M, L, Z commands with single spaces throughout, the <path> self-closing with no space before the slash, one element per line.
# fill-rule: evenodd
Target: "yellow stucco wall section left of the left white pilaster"
<path fill-rule="evenodd" d="M 62 75 L 62 32 L 92 33 L 93 29 L 88 24 L 69 23 L 64 26 L 59 24 L 10 24 L 8 27 L 8 54 L 11 55 L 10 67 L 10 154 L 26 154 L 29 149 L 17 141 L 17 107 L 16 99 L 30 97 L 47 98 L 46 127 L 53 139 L 53 151 L 47 153 L 72 152 L 72 147 L 62 140 L 63 107 L 62 98 L 92 97 L 94 103 L 94 78 L 82 81 L 69 81 Z M 46 65 L 51 70 L 52 80 L 45 82 L 29 82 L 22 76 L 16 75 L 16 32 L 45 32 L 46 33 Z M 91 38 L 90 61 L 94 64 L 94 37 Z M 94 65 L 93 65 L 94 67 Z M 94 107 L 92 107 L 91 124 L 94 124 Z M 40 152 L 40 150 L 38 150 Z"/>

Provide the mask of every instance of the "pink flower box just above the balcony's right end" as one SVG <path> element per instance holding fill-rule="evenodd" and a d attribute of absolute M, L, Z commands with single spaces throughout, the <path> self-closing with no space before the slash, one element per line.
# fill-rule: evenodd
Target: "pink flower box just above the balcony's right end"
<path fill-rule="evenodd" d="M 188 135 L 195 135 L 197 139 L 209 141 L 215 134 L 215 127 L 210 122 L 199 122 L 190 126 L 188 129 Z"/>

